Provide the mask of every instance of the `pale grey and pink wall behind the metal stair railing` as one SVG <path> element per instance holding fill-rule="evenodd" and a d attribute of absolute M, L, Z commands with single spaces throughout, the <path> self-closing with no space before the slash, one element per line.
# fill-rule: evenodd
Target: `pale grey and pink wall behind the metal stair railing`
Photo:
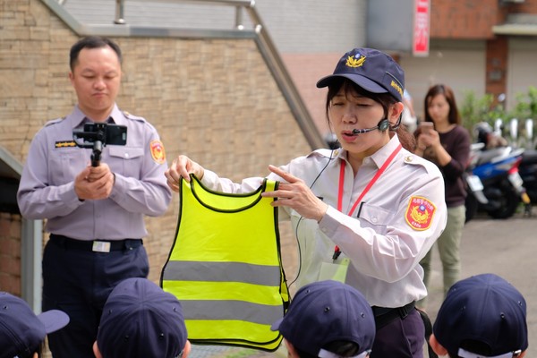
<path fill-rule="evenodd" d="M 326 90 L 318 90 L 315 82 L 333 72 L 337 60 L 346 51 L 365 44 L 367 3 L 368 0 L 255 2 L 254 8 L 321 133 L 328 132 L 324 110 Z M 72 16 L 94 24 L 112 23 L 114 6 L 109 0 L 69 0 L 64 3 Z M 171 28 L 229 30 L 234 26 L 234 8 L 181 1 L 125 2 L 124 19 L 130 25 L 155 26 L 160 23 Z M 245 29 L 252 26 L 244 12 L 243 25 Z"/>

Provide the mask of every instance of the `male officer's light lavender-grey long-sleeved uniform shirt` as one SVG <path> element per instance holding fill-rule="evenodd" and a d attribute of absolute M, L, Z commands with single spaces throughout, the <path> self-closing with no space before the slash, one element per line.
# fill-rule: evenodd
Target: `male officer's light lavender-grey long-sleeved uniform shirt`
<path fill-rule="evenodd" d="M 166 160 L 155 160 L 151 142 L 157 130 L 145 119 L 114 107 L 114 124 L 127 126 L 125 146 L 107 145 L 101 163 L 115 174 L 105 200 L 78 199 L 74 178 L 90 164 L 92 149 L 72 146 L 72 131 L 88 120 L 79 107 L 63 119 L 48 122 L 30 144 L 17 200 L 28 219 L 47 219 L 50 233 L 80 240 L 121 240 L 147 234 L 143 216 L 162 215 L 172 193 L 166 185 Z M 67 143 L 67 145 L 62 144 Z"/>

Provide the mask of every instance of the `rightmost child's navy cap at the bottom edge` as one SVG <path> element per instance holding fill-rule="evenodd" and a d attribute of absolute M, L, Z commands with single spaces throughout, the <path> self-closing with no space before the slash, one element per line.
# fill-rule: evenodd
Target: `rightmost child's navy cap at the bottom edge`
<path fill-rule="evenodd" d="M 479 358 L 461 346 L 467 341 L 490 348 L 488 356 L 516 357 L 528 347 L 524 297 L 494 274 L 466 278 L 451 286 L 432 329 L 451 354 Z"/>

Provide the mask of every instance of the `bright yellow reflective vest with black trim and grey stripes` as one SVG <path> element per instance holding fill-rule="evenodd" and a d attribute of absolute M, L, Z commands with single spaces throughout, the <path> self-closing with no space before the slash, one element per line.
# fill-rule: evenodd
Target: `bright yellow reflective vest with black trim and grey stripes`
<path fill-rule="evenodd" d="M 183 306 L 192 343 L 239 345 L 269 352 L 282 337 L 270 325 L 289 303 L 280 255 L 277 182 L 230 194 L 182 180 L 175 243 L 161 286 Z"/>

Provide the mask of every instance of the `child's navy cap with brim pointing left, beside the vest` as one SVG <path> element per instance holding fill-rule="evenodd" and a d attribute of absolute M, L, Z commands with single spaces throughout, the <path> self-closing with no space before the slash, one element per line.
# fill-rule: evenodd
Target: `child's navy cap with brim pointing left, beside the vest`
<path fill-rule="evenodd" d="M 286 315 L 271 327 L 299 350 L 316 357 L 336 357 L 322 347 L 334 341 L 354 342 L 356 357 L 371 352 L 375 318 L 365 297 L 338 281 L 303 286 L 294 295 Z"/>

